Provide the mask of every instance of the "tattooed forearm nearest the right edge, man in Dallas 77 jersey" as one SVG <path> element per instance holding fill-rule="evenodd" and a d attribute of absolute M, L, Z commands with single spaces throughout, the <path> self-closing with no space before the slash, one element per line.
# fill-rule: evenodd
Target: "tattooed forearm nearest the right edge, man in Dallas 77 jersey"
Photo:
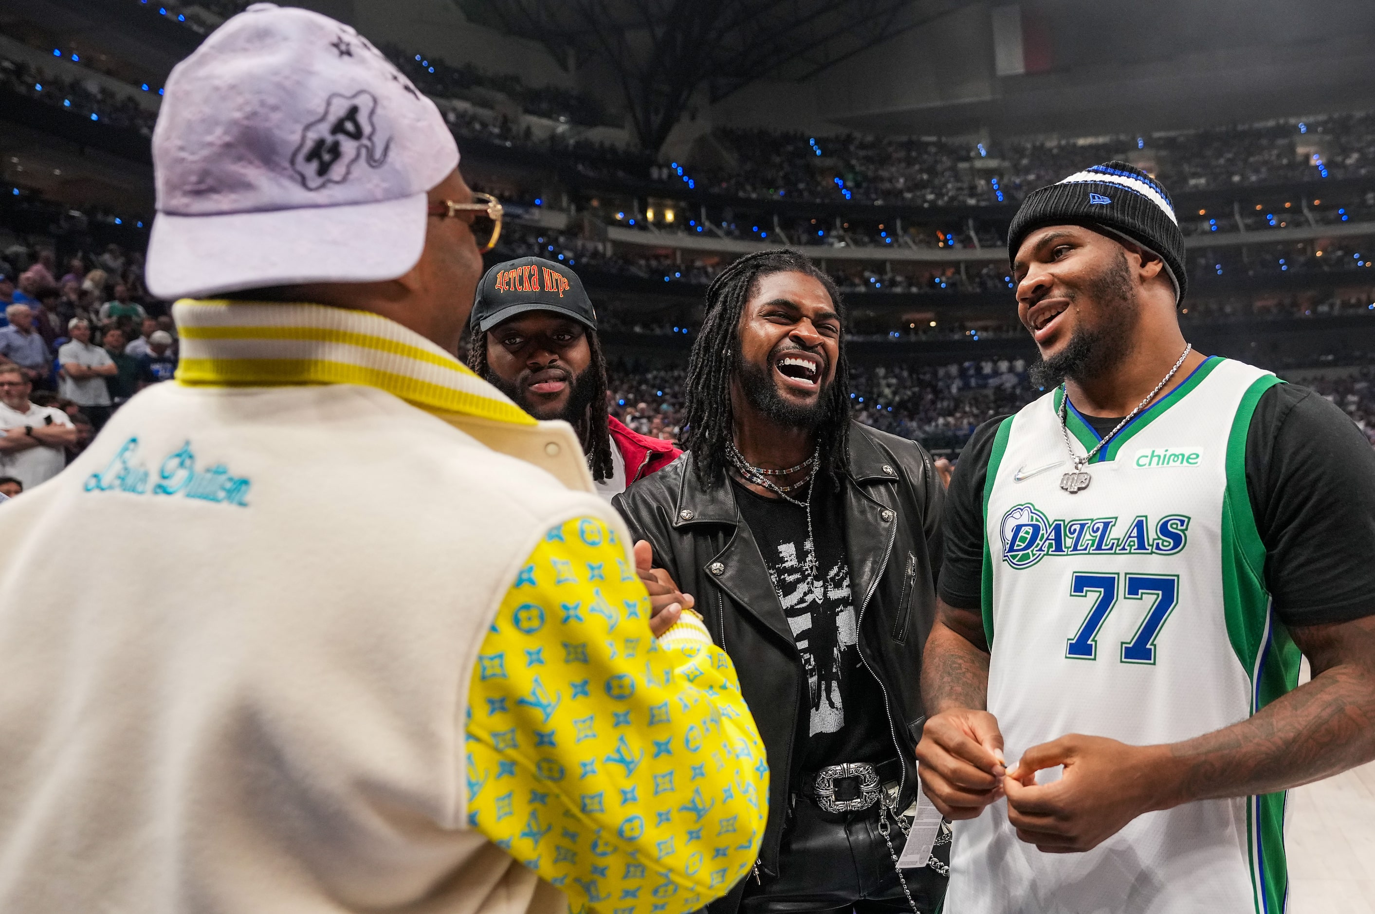
<path fill-rule="evenodd" d="M 1272 793 L 1375 759 L 1375 620 L 1294 629 L 1313 680 L 1255 716 L 1169 746 L 1174 803 Z"/>

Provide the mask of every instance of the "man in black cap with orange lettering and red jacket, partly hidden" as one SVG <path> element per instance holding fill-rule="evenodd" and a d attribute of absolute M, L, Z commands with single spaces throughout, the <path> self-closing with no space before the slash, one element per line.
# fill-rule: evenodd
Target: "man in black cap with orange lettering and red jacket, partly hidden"
<path fill-rule="evenodd" d="M 602 498 L 624 492 L 681 454 L 672 443 L 608 415 L 597 311 L 568 267 L 521 257 L 488 269 L 469 334 L 469 368 L 536 419 L 573 426 Z"/>

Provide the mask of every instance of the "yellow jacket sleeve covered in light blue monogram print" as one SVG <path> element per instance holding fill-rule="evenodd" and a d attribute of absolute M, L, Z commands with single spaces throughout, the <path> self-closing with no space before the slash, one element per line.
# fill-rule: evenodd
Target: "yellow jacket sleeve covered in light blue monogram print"
<path fill-rule="evenodd" d="M 468 700 L 468 823 L 575 911 L 678 914 L 754 865 L 769 766 L 736 669 L 689 613 L 649 634 L 615 532 L 549 531 L 483 642 Z"/>

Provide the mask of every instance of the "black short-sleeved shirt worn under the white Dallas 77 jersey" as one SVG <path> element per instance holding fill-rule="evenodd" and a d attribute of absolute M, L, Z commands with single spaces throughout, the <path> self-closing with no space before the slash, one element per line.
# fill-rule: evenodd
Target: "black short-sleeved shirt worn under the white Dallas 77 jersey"
<path fill-rule="evenodd" d="M 983 484 L 998 425 L 960 454 L 945 506 L 940 599 L 978 609 L 983 581 Z M 1107 434 L 1121 421 L 1085 416 Z M 1246 436 L 1246 489 L 1265 544 L 1265 583 L 1287 625 L 1375 614 L 1375 449 L 1332 403 L 1277 383 Z"/>

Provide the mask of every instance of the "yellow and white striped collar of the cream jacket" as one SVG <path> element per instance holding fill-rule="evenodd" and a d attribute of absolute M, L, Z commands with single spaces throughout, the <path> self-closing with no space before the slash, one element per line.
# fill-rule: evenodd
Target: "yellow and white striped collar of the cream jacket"
<path fill-rule="evenodd" d="M 358 383 L 429 412 L 535 425 L 452 355 L 393 320 L 311 304 L 195 301 L 172 306 L 188 386 Z"/>

